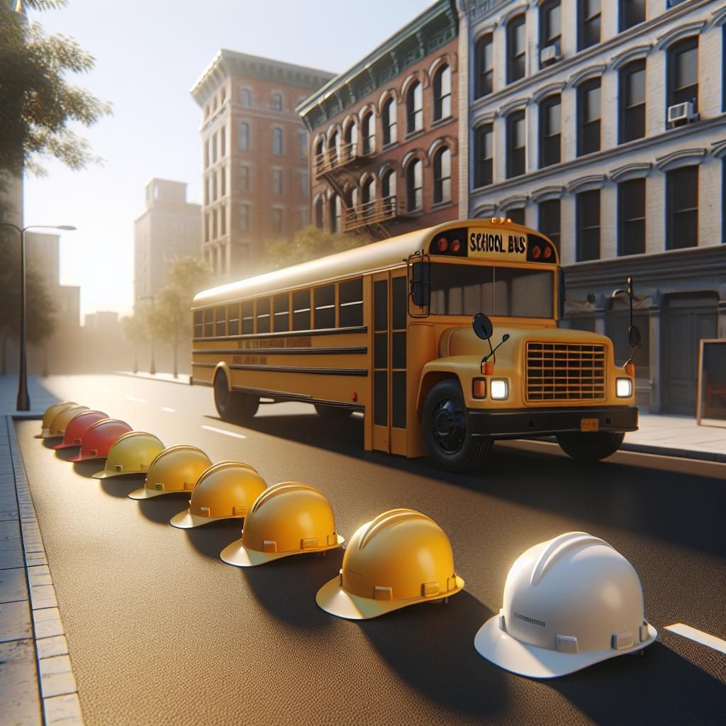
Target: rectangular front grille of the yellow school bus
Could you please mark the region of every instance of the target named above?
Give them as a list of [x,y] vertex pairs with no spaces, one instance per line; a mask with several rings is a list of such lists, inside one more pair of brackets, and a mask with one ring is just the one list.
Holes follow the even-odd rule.
[[605,346],[527,343],[528,401],[605,399]]

